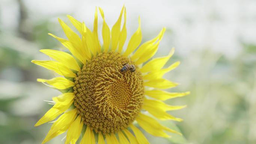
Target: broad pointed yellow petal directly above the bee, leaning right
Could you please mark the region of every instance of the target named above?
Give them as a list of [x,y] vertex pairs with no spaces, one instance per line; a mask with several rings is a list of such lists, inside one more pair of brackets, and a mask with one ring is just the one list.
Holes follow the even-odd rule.
[[140,45],[140,42],[142,39],[142,34],[141,34],[141,29],[140,29],[140,17],[139,17],[138,21],[139,21],[138,29],[132,35],[132,37],[128,43],[127,49],[124,53],[125,57],[127,57],[129,54],[131,54]]

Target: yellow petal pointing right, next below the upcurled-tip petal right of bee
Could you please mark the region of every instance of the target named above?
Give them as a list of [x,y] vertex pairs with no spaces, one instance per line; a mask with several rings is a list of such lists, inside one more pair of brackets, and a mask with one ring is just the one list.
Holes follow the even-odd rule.
[[168,68],[152,71],[152,72],[146,74],[145,76],[143,76],[143,79],[144,79],[144,80],[161,79],[162,76],[163,76],[165,73],[168,73],[169,71],[173,70],[173,69],[176,68],[179,64],[180,64],[180,62],[178,61],[178,62],[175,62],[174,64],[170,65]]

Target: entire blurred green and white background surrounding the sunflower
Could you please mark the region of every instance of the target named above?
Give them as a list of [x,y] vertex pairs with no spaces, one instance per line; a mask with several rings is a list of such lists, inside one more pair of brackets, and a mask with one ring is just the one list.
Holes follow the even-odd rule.
[[[64,49],[47,33],[65,37],[57,18],[72,15],[93,27],[95,6],[103,8],[112,27],[122,5],[127,7],[128,38],[141,17],[143,42],[167,27],[156,56],[172,47],[166,74],[179,82],[171,92],[191,91],[172,105],[183,122],[163,122],[183,136],[155,138],[152,144],[256,144],[256,1],[255,0],[0,0],[0,144],[40,144],[50,124],[34,124],[60,92],[36,82],[54,73],[32,64],[49,57],[39,49]],[[101,30],[102,19],[99,16]],[[100,33],[101,34],[101,33]],[[101,35],[100,35],[101,37]],[[127,45],[127,43],[126,43]],[[63,135],[48,144],[61,144]]]

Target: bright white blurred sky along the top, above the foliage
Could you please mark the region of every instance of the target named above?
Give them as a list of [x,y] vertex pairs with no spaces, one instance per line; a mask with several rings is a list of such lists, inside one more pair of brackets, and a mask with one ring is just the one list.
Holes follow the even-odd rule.
[[[1,27],[15,28],[16,1],[0,1]],[[165,34],[160,50],[168,52],[175,47],[184,56],[194,49],[209,48],[232,58],[242,49],[240,42],[256,44],[255,0],[24,0],[24,3],[33,21],[71,14],[90,28],[95,6],[103,8],[111,28],[125,4],[128,38],[137,29],[141,16],[144,37],[151,39],[162,27],[167,27],[171,32]],[[102,22],[100,15],[99,22]]]

